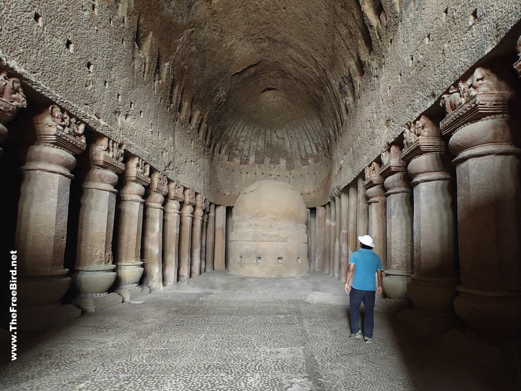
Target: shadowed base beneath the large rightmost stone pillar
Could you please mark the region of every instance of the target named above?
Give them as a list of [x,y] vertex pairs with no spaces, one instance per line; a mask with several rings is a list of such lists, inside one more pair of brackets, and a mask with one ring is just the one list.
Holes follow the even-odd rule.
[[[494,334],[494,330],[490,330]],[[456,329],[440,335],[440,340],[458,354],[482,361],[491,370],[518,371],[521,340],[483,336],[468,329]]]

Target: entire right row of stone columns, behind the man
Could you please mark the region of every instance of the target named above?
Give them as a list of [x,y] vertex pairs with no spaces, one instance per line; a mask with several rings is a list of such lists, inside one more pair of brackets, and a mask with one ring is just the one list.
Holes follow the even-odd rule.
[[[521,76],[521,60],[514,68]],[[400,318],[429,332],[452,330],[444,334],[451,343],[476,343],[475,335],[491,331],[518,337],[521,127],[514,74],[498,64],[477,67],[442,97],[441,123],[421,115],[405,127],[403,144],[385,146],[365,169],[365,180],[334,190],[316,208],[315,269],[342,278],[356,236],[368,233],[382,259],[384,293],[414,306]],[[461,324],[466,328],[453,330]]]

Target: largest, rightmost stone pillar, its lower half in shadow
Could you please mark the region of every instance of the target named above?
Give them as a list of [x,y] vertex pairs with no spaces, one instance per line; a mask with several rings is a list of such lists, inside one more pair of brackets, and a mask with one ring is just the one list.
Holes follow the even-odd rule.
[[521,330],[521,127],[507,75],[477,68],[460,83],[469,87],[463,96],[444,99],[440,128],[456,166],[461,285],[454,310],[472,331],[514,338]]

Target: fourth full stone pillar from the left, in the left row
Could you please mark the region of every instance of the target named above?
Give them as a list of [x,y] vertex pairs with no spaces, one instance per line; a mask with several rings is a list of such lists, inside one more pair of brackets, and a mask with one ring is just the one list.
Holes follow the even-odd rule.
[[163,289],[163,202],[168,194],[166,175],[154,170],[145,201],[143,233],[143,285],[150,291]]

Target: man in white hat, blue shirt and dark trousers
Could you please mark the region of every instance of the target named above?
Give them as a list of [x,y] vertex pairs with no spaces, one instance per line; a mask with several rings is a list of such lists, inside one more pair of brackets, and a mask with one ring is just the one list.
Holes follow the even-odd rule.
[[[358,236],[360,247],[355,251],[349,261],[348,272],[345,275],[345,293],[349,293],[351,310],[351,331],[349,339],[365,339],[367,344],[373,339],[375,328],[375,291],[378,295],[382,293],[382,262],[380,257],[374,253],[375,243],[369,235]],[[355,271],[355,278],[351,289],[349,281]],[[375,282],[375,273],[378,273],[378,286]],[[360,315],[358,309],[364,303],[365,320],[364,333],[360,329]]]

